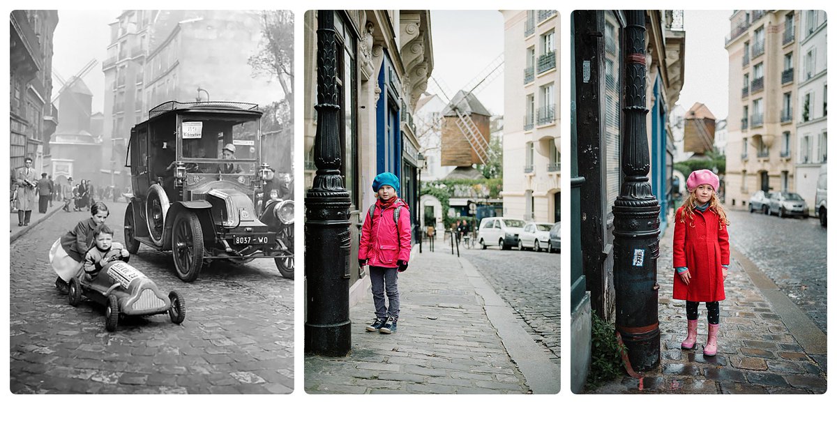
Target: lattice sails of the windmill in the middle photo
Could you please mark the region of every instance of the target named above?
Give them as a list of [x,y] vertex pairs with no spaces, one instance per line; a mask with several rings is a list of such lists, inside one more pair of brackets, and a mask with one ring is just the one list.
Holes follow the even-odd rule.
[[[433,90],[435,90],[431,93],[438,94],[444,98],[449,109],[454,111],[456,114],[456,126],[482,164],[490,162],[494,155],[490,152],[488,141],[485,140],[485,136],[479,130],[474,120],[471,119],[470,110],[465,105],[469,97],[474,97],[476,93],[485,89],[486,86],[503,73],[504,60],[504,54],[502,53],[493,59],[474,79],[471,79],[468,84],[465,84],[465,87],[460,90],[460,92],[464,93],[462,95],[459,93],[457,95],[450,95],[449,88],[444,84],[442,79],[437,79],[434,76],[430,78],[433,80]],[[439,116],[437,119],[441,120],[443,117]],[[439,128],[438,121],[423,122],[423,124],[419,125],[424,130],[419,130],[420,134],[430,129]]]

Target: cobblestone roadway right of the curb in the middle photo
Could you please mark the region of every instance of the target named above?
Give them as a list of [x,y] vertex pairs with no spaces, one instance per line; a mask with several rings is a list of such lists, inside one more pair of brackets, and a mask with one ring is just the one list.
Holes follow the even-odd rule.
[[561,361],[561,254],[490,247],[465,248],[467,258],[494,287],[529,333]]

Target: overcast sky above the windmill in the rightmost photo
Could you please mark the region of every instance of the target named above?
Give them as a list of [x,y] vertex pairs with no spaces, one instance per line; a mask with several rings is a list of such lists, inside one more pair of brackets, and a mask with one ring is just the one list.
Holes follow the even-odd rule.
[[717,120],[729,108],[729,54],[724,39],[730,33],[730,11],[686,11],[686,74],[677,105],[689,110],[701,102]]

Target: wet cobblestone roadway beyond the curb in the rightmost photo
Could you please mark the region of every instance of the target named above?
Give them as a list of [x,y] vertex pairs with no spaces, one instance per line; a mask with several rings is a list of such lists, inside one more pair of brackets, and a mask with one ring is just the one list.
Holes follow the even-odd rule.
[[815,217],[730,212],[730,242],[827,332],[827,230]]

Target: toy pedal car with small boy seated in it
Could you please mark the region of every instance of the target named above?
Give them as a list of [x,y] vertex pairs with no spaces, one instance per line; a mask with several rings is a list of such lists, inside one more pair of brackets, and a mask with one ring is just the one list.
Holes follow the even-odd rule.
[[163,294],[151,279],[123,261],[105,264],[92,281],[84,273],[69,280],[69,304],[82,299],[105,305],[105,329],[116,330],[120,315],[157,315],[168,312],[172,322],[186,319],[186,306],[175,291]]

